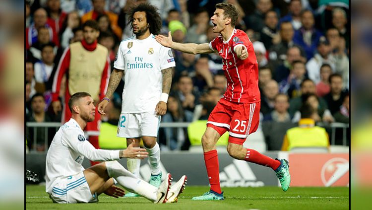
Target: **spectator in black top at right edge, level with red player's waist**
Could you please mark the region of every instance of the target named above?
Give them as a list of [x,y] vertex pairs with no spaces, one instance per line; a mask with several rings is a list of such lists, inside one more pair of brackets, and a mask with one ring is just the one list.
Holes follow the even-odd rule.
[[324,96],[331,114],[335,114],[340,110],[345,96],[348,94],[347,90],[343,90],[342,76],[339,73],[332,73],[329,76],[329,85],[331,91]]

